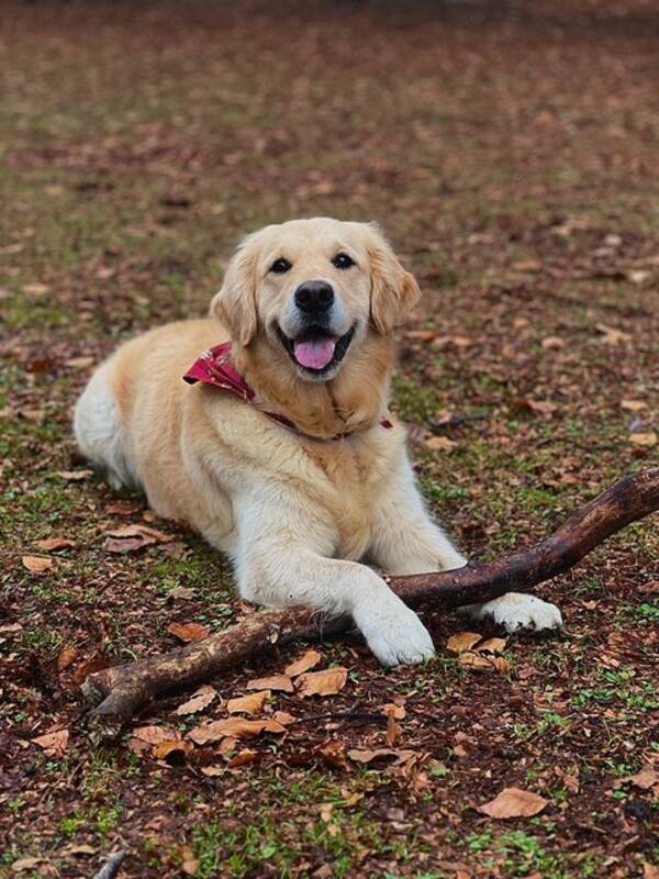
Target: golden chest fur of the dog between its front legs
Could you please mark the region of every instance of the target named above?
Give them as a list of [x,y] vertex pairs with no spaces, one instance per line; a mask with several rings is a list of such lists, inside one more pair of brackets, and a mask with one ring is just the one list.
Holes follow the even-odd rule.
[[339,558],[361,558],[371,543],[378,500],[393,467],[388,452],[350,441],[306,449],[328,483],[323,500],[338,534]]

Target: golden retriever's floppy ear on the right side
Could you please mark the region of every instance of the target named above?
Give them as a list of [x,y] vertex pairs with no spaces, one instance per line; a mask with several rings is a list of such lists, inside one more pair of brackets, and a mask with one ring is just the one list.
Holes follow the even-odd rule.
[[386,335],[407,316],[421,290],[414,276],[401,266],[378,225],[369,223],[369,229],[371,318],[376,330]]

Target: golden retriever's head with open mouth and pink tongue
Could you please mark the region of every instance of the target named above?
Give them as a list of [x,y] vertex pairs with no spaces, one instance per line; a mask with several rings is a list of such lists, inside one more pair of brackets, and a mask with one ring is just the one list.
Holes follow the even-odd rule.
[[211,315],[239,345],[261,336],[299,376],[326,381],[369,335],[389,335],[418,294],[377,225],[292,220],[243,241]]

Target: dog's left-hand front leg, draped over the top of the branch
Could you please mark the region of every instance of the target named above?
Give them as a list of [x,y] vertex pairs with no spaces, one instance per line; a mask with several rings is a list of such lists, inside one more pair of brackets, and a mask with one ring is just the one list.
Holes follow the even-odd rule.
[[[331,616],[349,614],[386,666],[434,656],[433,641],[414,611],[366,565],[331,558],[336,534],[322,510],[287,504],[268,489],[234,499],[234,552],[241,594],[273,607],[306,604]],[[275,501],[275,502],[269,502]]]

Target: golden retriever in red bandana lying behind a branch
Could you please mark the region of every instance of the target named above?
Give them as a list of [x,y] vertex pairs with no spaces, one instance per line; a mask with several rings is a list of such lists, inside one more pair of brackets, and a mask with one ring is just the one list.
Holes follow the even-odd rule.
[[[152,330],[99,367],[76,405],[79,448],[228,554],[243,598],[349,614],[383,665],[426,660],[431,635],[377,572],[466,564],[388,411],[394,326],[418,297],[375,224],[266,226],[238,246],[208,319]],[[517,593],[471,612],[510,631],[562,622]]]

